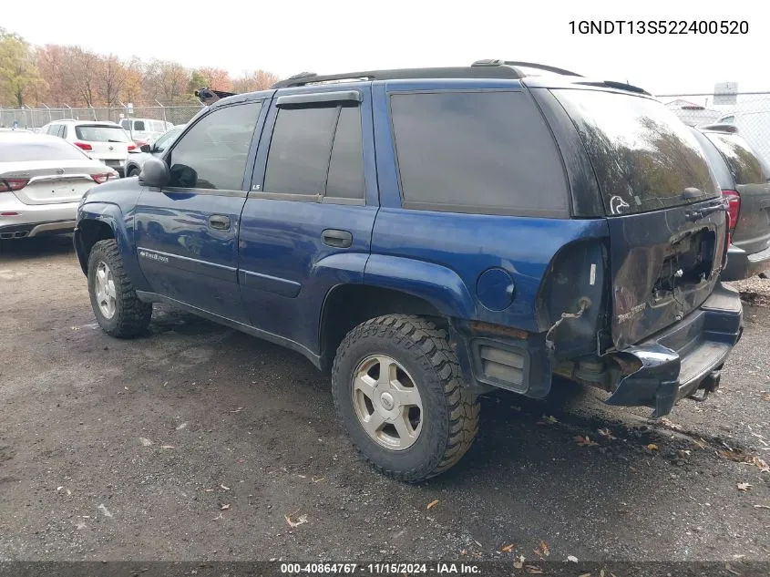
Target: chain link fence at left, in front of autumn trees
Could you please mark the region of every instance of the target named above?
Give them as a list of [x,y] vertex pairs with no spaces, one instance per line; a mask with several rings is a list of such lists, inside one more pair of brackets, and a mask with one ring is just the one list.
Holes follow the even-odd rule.
[[110,120],[122,118],[152,118],[171,124],[186,124],[202,105],[148,106],[115,108],[0,108],[0,128],[39,129],[54,120]]

